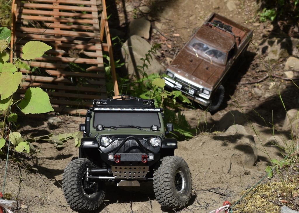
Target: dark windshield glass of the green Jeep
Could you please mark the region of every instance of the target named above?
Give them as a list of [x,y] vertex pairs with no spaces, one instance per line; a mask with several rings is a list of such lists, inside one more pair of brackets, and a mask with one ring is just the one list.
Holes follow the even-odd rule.
[[149,128],[152,125],[161,127],[156,112],[96,112],[94,113],[93,126],[96,127],[99,124],[120,128],[134,128],[122,125],[141,126],[142,128]]

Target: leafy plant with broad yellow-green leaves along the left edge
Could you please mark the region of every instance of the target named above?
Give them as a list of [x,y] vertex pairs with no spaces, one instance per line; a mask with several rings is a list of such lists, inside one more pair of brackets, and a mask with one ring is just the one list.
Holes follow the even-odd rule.
[[[0,111],[2,117],[0,120],[1,148],[6,141],[10,141],[18,152],[30,151],[30,142],[23,140],[19,132],[13,132],[13,125],[16,125],[18,115],[12,109],[18,108],[24,114],[38,114],[53,111],[49,96],[41,88],[30,87],[26,90],[25,96],[14,100],[16,91],[22,87],[24,82],[23,74],[19,70],[27,70],[28,75],[30,63],[35,58],[41,57],[45,51],[52,47],[41,41],[29,41],[22,48],[22,57],[18,58],[14,54],[13,63],[7,62],[10,59],[6,49],[13,51],[9,44],[11,40],[11,31],[6,27],[0,27]],[[28,63],[22,60],[27,60]],[[32,147],[32,146],[31,146]]]

